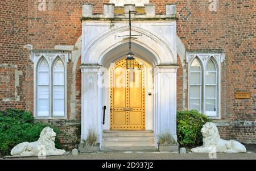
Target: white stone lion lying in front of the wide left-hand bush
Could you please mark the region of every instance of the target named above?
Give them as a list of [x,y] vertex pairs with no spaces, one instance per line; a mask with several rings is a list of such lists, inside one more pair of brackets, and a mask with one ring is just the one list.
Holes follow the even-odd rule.
[[34,155],[64,155],[63,149],[55,148],[56,132],[52,128],[46,127],[40,134],[38,141],[28,143],[23,142],[16,145],[11,150],[12,156],[34,156]]

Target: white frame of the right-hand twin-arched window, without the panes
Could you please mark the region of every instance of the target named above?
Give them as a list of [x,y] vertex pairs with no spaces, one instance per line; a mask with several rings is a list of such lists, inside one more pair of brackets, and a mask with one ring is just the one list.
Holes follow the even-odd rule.
[[[190,109],[190,76],[191,64],[197,58],[201,64],[201,113],[208,115],[210,118],[221,119],[221,63],[225,60],[225,54],[221,51],[189,51],[186,53],[186,60],[188,62],[188,109]],[[206,73],[207,64],[210,60],[216,67],[216,112],[206,112]],[[202,94],[203,93],[203,94]],[[203,102],[202,102],[203,101]]]

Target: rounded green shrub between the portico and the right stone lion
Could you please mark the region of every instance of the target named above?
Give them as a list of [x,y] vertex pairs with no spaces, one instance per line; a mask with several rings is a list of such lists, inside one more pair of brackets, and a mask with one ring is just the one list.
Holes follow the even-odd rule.
[[177,141],[181,147],[194,147],[203,143],[201,128],[210,119],[196,110],[177,111]]

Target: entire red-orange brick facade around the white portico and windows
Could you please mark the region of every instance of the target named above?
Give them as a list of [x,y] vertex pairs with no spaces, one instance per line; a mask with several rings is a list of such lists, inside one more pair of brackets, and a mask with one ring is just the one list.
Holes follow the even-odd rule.
[[[85,2],[94,3],[94,12],[101,13],[103,3],[109,1],[46,0],[45,11],[39,8],[40,1],[0,2],[0,110],[16,108],[33,112],[34,64],[29,61],[29,51],[24,45],[31,44],[33,49],[46,50],[54,49],[55,45],[75,45],[81,36],[80,19],[82,3]],[[158,14],[165,11],[167,3],[174,2],[178,18],[177,36],[185,45],[186,51],[214,50],[225,53],[225,61],[221,64],[221,121],[255,122],[255,1],[217,0],[215,11],[209,10],[208,0],[150,1],[156,4]],[[80,122],[81,119],[81,57],[78,58],[77,64],[73,61],[67,64],[67,122],[73,119]],[[181,62],[183,61],[178,59],[177,109],[187,109],[188,92],[183,92]],[[72,101],[71,81],[74,76],[75,103]],[[236,91],[250,91],[250,99],[235,99]],[[71,111],[74,104],[75,116]],[[64,126],[61,128],[65,130]],[[255,125],[230,124],[219,126],[219,130],[224,138],[256,143]]]

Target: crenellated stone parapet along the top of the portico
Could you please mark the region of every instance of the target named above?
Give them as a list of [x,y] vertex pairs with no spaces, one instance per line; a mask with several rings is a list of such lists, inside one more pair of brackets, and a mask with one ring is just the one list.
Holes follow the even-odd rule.
[[115,6],[114,3],[104,3],[103,14],[93,14],[93,4],[84,3],[82,5],[83,19],[127,19],[127,13],[138,11],[132,14],[132,19],[176,19],[176,5],[167,4],[165,14],[155,13],[155,4],[145,4],[144,6],[135,6],[135,4],[125,4],[123,6]]

